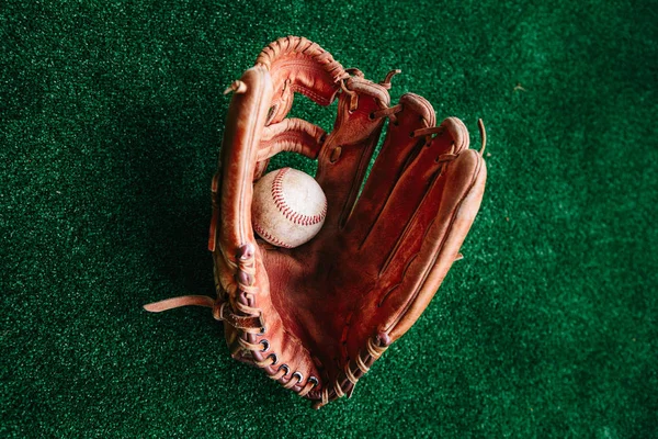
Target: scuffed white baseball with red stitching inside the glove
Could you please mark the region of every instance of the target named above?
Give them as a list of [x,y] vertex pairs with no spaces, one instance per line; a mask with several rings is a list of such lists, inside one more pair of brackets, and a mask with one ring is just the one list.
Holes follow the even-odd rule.
[[292,168],[266,173],[253,187],[251,221],[270,244],[294,248],[320,232],[327,196],[315,179]]

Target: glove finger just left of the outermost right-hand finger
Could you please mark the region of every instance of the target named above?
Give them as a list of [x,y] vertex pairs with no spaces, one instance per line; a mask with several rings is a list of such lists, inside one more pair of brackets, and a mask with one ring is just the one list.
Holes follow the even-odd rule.
[[[438,200],[432,199],[430,193],[434,187],[441,185],[445,181],[445,178],[442,178],[442,171],[451,164],[446,164],[444,160],[456,157],[460,150],[463,150],[464,146],[468,144],[462,137],[463,131],[465,131],[464,124],[457,119],[447,119],[440,127],[432,130],[441,131],[441,133],[427,142],[423,142],[423,136],[420,137],[421,147],[418,154],[411,156],[405,164],[404,170],[388,193],[375,222],[360,244],[360,249],[368,254],[368,260],[381,271],[386,270],[396,248],[412,232],[410,227],[413,217],[421,210],[430,209],[433,203],[436,203]],[[411,133],[407,135],[411,135]],[[436,212],[438,205],[433,209]],[[373,248],[390,250],[373,251],[376,256],[371,257],[370,252]]]

